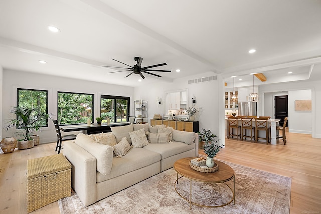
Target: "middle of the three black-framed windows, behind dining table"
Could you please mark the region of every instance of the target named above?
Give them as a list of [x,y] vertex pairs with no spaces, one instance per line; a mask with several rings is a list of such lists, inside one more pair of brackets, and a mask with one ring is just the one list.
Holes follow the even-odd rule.
[[93,121],[94,95],[58,91],[58,123],[79,124]]

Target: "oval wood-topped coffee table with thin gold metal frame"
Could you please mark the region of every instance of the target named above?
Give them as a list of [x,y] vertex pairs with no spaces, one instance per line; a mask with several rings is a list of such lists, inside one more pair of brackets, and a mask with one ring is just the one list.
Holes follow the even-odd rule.
[[[230,204],[232,201],[234,201],[235,204],[235,174],[234,170],[228,166],[227,164],[215,160],[215,162],[219,165],[219,170],[216,172],[212,173],[205,173],[205,172],[199,172],[194,169],[192,169],[189,165],[189,162],[191,159],[194,159],[195,157],[187,157],[180,159],[174,163],[174,169],[177,172],[177,179],[174,183],[174,188],[176,193],[182,197],[184,200],[190,202],[190,209],[192,209],[192,204],[197,205],[197,206],[202,206],[202,207],[208,207],[208,208],[218,208],[222,206],[226,206]],[[182,175],[181,177],[178,177],[178,174]],[[178,183],[178,180],[182,177],[185,177],[190,180],[190,200],[184,198],[176,189],[176,184]],[[230,181],[233,179],[233,190],[232,188],[227,185],[225,182]],[[229,189],[232,191],[232,199],[222,205],[219,206],[206,206],[202,204],[198,204],[195,202],[192,202],[192,180],[194,181],[199,181],[199,182],[204,182],[204,183],[224,183]]]

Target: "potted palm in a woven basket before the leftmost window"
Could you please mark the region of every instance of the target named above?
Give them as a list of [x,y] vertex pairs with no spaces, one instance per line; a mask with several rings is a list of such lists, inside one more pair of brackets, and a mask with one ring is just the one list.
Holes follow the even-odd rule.
[[9,119],[10,125],[6,126],[8,131],[11,127],[16,127],[16,134],[23,139],[18,140],[18,149],[34,147],[32,134],[34,131],[41,131],[43,119],[48,118],[48,114],[40,111],[38,107],[28,107],[25,105],[13,107],[10,113],[16,115],[14,119]]

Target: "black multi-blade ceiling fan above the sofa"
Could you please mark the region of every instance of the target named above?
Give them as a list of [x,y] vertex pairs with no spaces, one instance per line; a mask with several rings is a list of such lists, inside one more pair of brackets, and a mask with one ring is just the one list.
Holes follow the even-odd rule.
[[[126,66],[129,66],[129,68],[124,68],[124,67],[115,67],[115,66],[106,66],[106,65],[102,65],[103,67],[109,67],[109,68],[123,68],[123,69],[126,69],[126,70],[123,70],[123,71],[132,71],[130,74],[128,74],[126,77],[130,76],[131,74],[139,74],[143,79],[145,79],[144,75],[142,73],[146,73],[146,74],[150,74],[150,75],[153,75],[153,76],[156,76],[156,77],[162,77],[161,75],[158,75],[158,74],[153,74],[153,73],[150,73],[149,71],[157,71],[157,72],[171,72],[169,70],[155,70],[155,69],[149,69],[149,68],[154,68],[154,67],[158,67],[158,66],[163,66],[163,65],[166,65],[166,63],[161,63],[161,64],[157,64],[157,65],[151,65],[151,66],[146,66],[146,67],[141,67],[141,63],[142,63],[142,60],[143,58],[141,57],[135,57],[134,58],[135,61],[137,62],[136,65],[134,66],[130,66],[130,65],[127,65],[123,62],[120,62],[118,60],[115,60],[115,59],[112,59],[112,60],[115,60],[119,63],[122,63]],[[117,73],[117,72],[123,72],[123,71],[114,71],[114,72],[108,72],[108,73]]]

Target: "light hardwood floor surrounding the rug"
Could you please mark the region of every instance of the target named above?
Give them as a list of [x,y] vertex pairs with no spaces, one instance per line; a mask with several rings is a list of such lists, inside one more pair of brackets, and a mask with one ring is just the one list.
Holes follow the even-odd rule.
[[[27,213],[27,160],[55,154],[55,143],[0,153],[0,213]],[[63,150],[62,150],[63,151]],[[202,150],[199,150],[202,153]],[[204,153],[203,153],[204,154]],[[276,146],[227,140],[216,158],[292,178],[290,213],[321,213],[321,139],[287,133]],[[237,194],[237,192],[236,192]],[[33,213],[60,213],[54,202]]]

